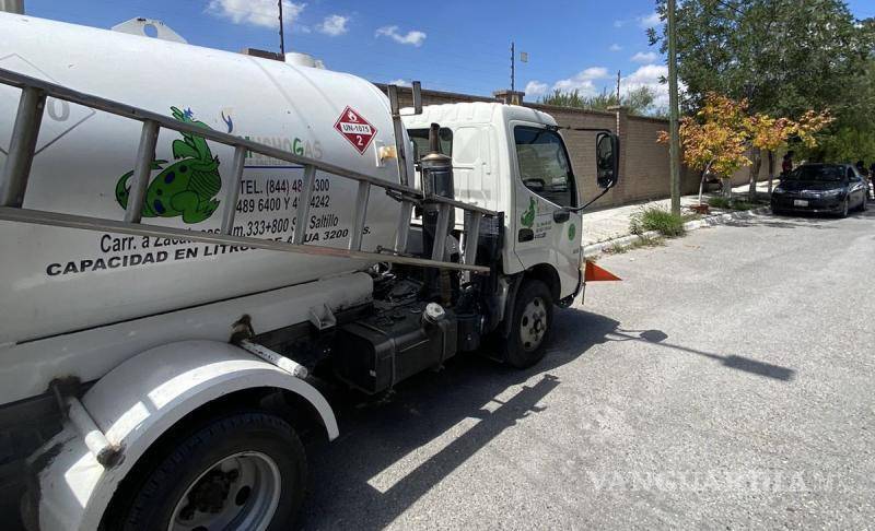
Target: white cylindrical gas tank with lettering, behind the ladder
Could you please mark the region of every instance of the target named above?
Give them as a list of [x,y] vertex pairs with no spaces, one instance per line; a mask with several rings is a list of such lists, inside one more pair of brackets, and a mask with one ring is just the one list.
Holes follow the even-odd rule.
[[[0,68],[398,182],[387,98],[360,78],[178,43],[0,13]],[[0,165],[20,91],[0,85]],[[340,118],[373,138],[348,138]],[[121,220],[140,123],[49,98],[24,206]],[[252,153],[224,204],[233,149],[162,130],[144,223],[289,239],[303,169]],[[308,241],[346,247],[357,184],[317,174]],[[371,193],[363,250],[392,246],[399,205]],[[2,344],[360,270],[366,263],[0,222]]]

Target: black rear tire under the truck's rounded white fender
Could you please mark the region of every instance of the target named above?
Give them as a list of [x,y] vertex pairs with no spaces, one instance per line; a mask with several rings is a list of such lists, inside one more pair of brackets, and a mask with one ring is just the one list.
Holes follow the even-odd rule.
[[104,529],[285,530],[304,499],[304,447],[270,413],[208,418],[147,464],[113,502]]

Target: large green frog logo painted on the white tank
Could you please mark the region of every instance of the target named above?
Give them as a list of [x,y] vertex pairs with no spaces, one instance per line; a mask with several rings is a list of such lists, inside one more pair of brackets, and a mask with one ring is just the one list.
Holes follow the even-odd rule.
[[[191,109],[179,110],[171,107],[173,117],[185,123],[210,129],[202,121],[195,120]],[[175,163],[167,167],[167,161],[154,161],[152,170],[161,170],[152,179],[143,201],[143,217],[176,217],[183,222],[200,223],[209,219],[219,208],[215,194],[222,189],[222,177],[219,175],[219,157],[213,156],[207,141],[191,133],[180,133],[182,140],[174,140],[173,158]],[[128,179],[133,170],[118,179],[116,201],[122,209],[128,206],[130,185]]]

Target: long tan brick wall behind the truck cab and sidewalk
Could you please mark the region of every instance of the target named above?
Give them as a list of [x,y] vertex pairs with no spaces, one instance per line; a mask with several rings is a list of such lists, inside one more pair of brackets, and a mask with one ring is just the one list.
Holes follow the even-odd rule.
[[[378,84],[377,86],[383,91],[386,88],[385,85]],[[423,105],[494,101],[495,98],[492,97],[422,91]],[[413,105],[410,88],[400,87],[399,103],[402,107]],[[628,116],[623,109],[597,111],[532,103],[523,103],[523,105],[551,115],[560,126],[606,128],[617,132],[619,125],[620,180],[611,191],[598,200],[598,206],[614,206],[648,199],[662,199],[669,196],[668,145],[656,143],[658,132],[668,129],[666,120]],[[578,189],[581,190],[581,198],[588,200],[599,192],[595,185],[595,133],[562,131],[562,137],[568,145],[571,164],[578,178]],[[780,160],[778,164],[780,164]],[[748,178],[749,169],[743,168],[733,176],[733,184],[745,184]],[[766,178],[768,178],[768,167],[763,157],[760,179]],[[696,193],[699,190],[698,173],[681,167],[680,190],[685,194]]]

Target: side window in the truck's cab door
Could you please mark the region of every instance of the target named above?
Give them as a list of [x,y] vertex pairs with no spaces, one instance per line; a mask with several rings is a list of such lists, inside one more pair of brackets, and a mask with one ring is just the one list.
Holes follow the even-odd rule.
[[576,206],[574,174],[562,138],[549,129],[513,130],[520,176],[526,188],[560,206]]

